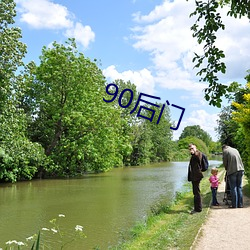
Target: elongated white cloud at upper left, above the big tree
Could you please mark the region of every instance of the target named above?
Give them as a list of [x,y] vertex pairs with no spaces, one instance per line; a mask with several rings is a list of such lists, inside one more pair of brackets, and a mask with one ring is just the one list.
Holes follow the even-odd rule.
[[64,30],[63,35],[75,38],[84,48],[95,39],[89,25],[75,22],[74,15],[63,5],[49,0],[17,0],[20,20],[34,29]]

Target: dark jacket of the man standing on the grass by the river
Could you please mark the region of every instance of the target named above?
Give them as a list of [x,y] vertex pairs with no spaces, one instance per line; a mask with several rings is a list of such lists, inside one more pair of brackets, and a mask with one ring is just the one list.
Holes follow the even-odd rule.
[[199,150],[191,155],[188,166],[188,181],[200,181],[203,178],[201,172],[201,158],[202,153]]

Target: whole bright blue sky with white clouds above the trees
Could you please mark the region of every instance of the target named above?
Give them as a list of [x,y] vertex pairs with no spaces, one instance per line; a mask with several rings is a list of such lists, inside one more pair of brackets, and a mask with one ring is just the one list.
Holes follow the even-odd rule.
[[[15,20],[27,44],[25,62],[39,64],[43,46],[74,37],[78,50],[97,60],[108,83],[131,81],[139,92],[168,101],[175,124],[181,115],[175,106],[185,108],[178,130],[173,130],[174,139],[186,126],[200,125],[217,141],[214,128],[221,109],[204,100],[207,84],[199,82],[192,63],[194,52],[202,51],[190,30],[194,2],[16,0]],[[250,69],[250,21],[228,17],[227,10],[221,10],[226,29],[218,33],[216,42],[225,52],[227,72],[219,77],[224,84],[237,81],[244,86]]]

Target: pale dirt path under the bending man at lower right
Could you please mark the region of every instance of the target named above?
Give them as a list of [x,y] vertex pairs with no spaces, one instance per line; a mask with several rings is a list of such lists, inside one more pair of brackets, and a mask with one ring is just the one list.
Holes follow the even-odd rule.
[[218,188],[219,207],[211,207],[191,249],[250,249],[250,199],[244,196],[244,207],[230,209],[223,202],[225,182]]

